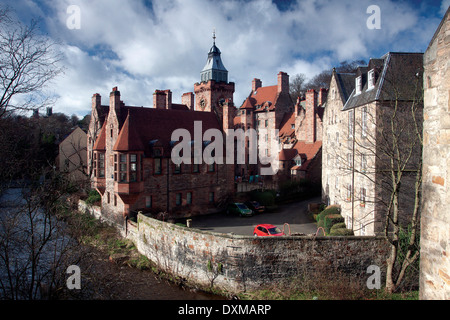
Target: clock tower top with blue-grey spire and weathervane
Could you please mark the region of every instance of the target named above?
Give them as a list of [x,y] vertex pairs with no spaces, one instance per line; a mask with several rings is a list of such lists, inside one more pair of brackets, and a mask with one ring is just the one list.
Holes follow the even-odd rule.
[[215,112],[222,121],[224,102],[233,102],[234,82],[228,82],[228,71],[220,54],[214,31],[213,46],[209,50],[206,65],[200,72],[200,83],[194,84],[194,93],[195,110]]

